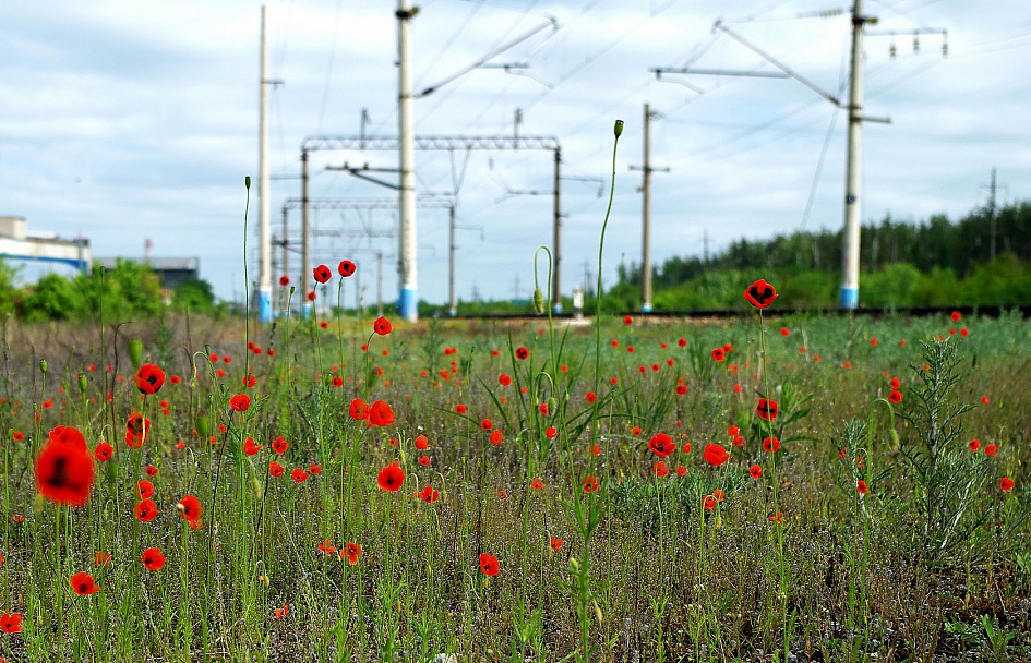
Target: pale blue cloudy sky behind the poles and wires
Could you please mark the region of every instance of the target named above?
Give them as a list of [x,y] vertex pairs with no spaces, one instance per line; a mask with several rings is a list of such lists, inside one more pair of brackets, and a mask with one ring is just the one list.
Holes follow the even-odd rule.
[[[699,255],[706,237],[718,251],[741,237],[837,229],[843,111],[795,80],[657,80],[650,70],[777,71],[714,31],[721,19],[815,86],[847,98],[847,2],[428,0],[412,21],[415,88],[446,83],[415,101],[416,134],[518,132],[559,141],[566,293],[597,268],[615,119],[626,129],[604,281],[615,279],[620,263],[640,261],[640,172],[632,167],[642,164],[646,103],[657,113],[652,167],[669,168],[652,176],[657,263]],[[281,81],[269,119],[277,234],[285,201],[300,195],[305,137],[396,137],[394,9],[387,0],[268,4],[269,75]],[[993,167],[1000,203],[1031,197],[1031,76],[1021,64],[1031,55],[1031,5],[867,0],[866,13],[878,23],[865,44],[865,111],[891,123],[864,126],[864,220],[957,219],[985,204]],[[934,32],[940,29],[947,39]],[[3,2],[0,215],[26,217],[32,231],[88,238],[97,256],[139,258],[149,240],[153,256],[196,256],[220,298],[242,299],[257,279],[253,195],[244,272],[243,180],[257,177],[259,43],[259,2]],[[534,251],[551,244],[552,155],[420,150],[416,159],[420,193],[458,194],[459,298],[527,297]],[[316,153],[311,196],[386,198],[385,208],[313,213],[313,261],[355,260],[370,300],[382,256],[384,299],[392,301],[396,193],[325,169],[345,161],[397,167],[389,152]],[[300,215],[289,222],[297,239]],[[447,225],[444,209],[418,212],[418,294],[431,302],[447,300]],[[299,265],[291,256],[295,281]],[[23,279],[37,272],[25,267]],[[275,276],[281,272],[277,264]]]

